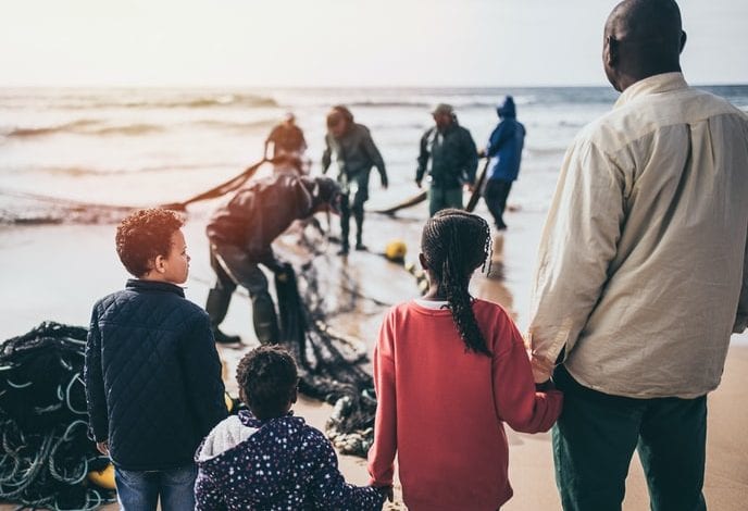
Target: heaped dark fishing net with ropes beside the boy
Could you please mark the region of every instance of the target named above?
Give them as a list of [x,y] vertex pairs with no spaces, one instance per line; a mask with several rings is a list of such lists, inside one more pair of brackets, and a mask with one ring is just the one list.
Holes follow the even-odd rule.
[[90,510],[113,491],[87,481],[109,459],[88,438],[86,329],[47,322],[0,347],[0,500]]

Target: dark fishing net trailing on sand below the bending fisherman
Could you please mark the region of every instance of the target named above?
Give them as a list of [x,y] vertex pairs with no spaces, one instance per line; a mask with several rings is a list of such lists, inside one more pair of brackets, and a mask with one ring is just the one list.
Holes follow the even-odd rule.
[[317,282],[311,263],[302,266],[299,282],[290,265],[276,274],[282,344],[297,360],[301,392],[334,406],[325,425],[333,445],[345,454],[365,458],[376,413],[374,382],[361,366],[366,349],[327,326]]

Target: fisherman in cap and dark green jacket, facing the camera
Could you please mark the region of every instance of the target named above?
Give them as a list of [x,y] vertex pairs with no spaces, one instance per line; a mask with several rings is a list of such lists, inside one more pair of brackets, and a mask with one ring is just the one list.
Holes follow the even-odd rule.
[[436,125],[421,137],[415,184],[421,188],[431,161],[428,213],[434,216],[446,208],[462,209],[462,186],[472,189],[475,184],[478,157],[473,137],[460,126],[451,105],[438,104],[432,115]]

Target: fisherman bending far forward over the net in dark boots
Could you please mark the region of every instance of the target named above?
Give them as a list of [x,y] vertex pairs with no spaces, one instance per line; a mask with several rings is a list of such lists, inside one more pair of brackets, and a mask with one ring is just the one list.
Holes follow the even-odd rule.
[[275,274],[287,266],[275,258],[273,240],[295,220],[317,211],[337,212],[340,189],[327,177],[299,176],[291,170],[252,182],[240,188],[208,223],[210,261],[216,283],[208,294],[205,310],[217,342],[239,342],[219,329],[237,285],[249,291],[252,300],[254,333],[262,344],[278,342],[275,304],[267,292],[267,278],[260,264]]

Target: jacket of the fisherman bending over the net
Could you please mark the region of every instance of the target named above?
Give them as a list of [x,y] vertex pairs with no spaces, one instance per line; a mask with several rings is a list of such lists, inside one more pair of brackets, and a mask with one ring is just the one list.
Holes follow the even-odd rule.
[[321,199],[312,196],[313,188],[313,179],[291,172],[254,180],[213,213],[208,238],[214,245],[239,247],[259,262],[295,220],[314,213]]

